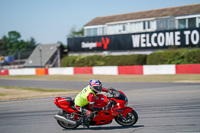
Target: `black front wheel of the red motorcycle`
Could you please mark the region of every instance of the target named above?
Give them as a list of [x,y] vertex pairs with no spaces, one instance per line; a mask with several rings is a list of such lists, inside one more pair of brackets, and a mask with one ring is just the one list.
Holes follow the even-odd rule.
[[126,118],[119,115],[115,117],[115,121],[122,126],[132,126],[138,121],[138,114],[135,110],[132,110],[126,115]]

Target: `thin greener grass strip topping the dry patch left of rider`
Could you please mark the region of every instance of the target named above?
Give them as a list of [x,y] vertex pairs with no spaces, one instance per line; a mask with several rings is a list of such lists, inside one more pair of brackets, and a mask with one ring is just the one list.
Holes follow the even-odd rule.
[[31,91],[39,91],[39,92],[70,92],[73,90],[66,89],[44,89],[44,88],[31,88],[31,87],[16,87],[16,86],[0,86],[5,89],[19,89],[19,90],[31,90]]

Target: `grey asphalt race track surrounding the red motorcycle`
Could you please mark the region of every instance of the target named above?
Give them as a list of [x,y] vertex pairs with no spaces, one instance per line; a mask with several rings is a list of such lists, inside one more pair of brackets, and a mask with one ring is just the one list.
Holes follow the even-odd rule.
[[[81,89],[86,82],[0,80],[1,86]],[[62,129],[53,118],[59,109],[54,97],[0,102],[0,133],[200,133],[200,84],[188,83],[114,83],[122,90],[129,106],[138,115],[138,122],[122,127],[115,121],[109,125],[79,126]],[[74,97],[74,95],[72,95]]]

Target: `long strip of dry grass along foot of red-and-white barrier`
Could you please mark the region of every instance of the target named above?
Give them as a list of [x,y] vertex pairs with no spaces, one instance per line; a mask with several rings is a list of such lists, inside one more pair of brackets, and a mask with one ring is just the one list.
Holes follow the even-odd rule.
[[17,80],[48,80],[48,81],[87,81],[99,79],[102,82],[180,82],[183,80],[200,82],[200,74],[175,75],[29,75],[29,76],[0,76],[0,79]]

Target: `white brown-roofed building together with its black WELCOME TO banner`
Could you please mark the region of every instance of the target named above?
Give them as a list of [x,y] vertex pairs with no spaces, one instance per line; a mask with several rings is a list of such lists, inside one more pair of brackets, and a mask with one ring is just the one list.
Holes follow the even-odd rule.
[[96,17],[84,36],[68,38],[70,55],[150,54],[200,47],[200,4]]

